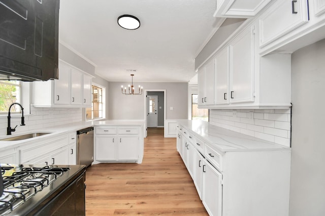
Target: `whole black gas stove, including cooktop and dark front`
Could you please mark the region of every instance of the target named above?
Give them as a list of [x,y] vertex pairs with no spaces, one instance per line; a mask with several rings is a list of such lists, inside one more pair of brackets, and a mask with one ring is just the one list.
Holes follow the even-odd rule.
[[1,164],[1,174],[0,215],[85,215],[83,165]]

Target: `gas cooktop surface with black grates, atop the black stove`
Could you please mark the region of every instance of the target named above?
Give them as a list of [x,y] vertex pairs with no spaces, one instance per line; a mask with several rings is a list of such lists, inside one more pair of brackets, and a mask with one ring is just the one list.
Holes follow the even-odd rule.
[[1,164],[3,184],[0,186],[3,193],[0,197],[0,215],[36,212],[84,171],[85,167],[79,165]]

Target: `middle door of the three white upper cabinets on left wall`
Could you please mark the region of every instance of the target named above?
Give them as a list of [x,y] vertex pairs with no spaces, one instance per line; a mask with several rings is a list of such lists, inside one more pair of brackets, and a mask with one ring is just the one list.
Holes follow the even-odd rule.
[[74,68],[71,69],[71,104],[82,104],[82,73]]

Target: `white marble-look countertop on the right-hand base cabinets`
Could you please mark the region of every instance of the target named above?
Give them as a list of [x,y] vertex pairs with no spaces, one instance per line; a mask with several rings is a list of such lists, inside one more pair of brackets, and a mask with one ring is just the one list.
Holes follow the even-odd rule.
[[[200,136],[210,147],[221,151],[290,150],[289,147],[240,134],[202,120],[178,120],[194,136]],[[199,139],[200,139],[199,137]]]

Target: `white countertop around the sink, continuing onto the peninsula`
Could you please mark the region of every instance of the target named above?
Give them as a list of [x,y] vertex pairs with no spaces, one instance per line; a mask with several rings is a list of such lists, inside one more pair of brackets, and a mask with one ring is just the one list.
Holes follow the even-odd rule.
[[31,133],[50,133],[48,135],[43,135],[35,138],[30,138],[26,140],[18,140],[18,141],[0,141],[0,149],[6,150],[8,148],[13,148],[19,145],[24,145],[25,143],[31,143],[35,141],[41,141],[42,139],[49,138],[51,136],[60,135],[63,133],[72,133],[76,132],[80,129],[90,126],[123,126],[123,125],[135,125],[135,126],[144,126],[145,121],[141,120],[105,120],[105,121],[80,121],[70,124],[63,124],[51,127],[44,127],[42,129],[34,129],[30,131],[25,131],[21,133],[12,133],[12,135],[3,135],[0,136],[1,139],[6,139],[10,137],[16,137],[24,134],[31,134]]

